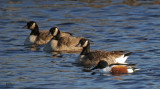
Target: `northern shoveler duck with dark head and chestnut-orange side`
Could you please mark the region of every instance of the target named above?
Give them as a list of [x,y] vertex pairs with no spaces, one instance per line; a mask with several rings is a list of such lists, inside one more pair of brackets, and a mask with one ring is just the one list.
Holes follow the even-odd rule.
[[116,74],[133,73],[137,70],[140,70],[140,69],[135,68],[134,66],[135,64],[111,64],[109,65],[106,61],[101,60],[99,61],[97,66],[95,66],[91,70],[102,69],[102,72],[104,73],[108,72],[113,75],[116,75]]

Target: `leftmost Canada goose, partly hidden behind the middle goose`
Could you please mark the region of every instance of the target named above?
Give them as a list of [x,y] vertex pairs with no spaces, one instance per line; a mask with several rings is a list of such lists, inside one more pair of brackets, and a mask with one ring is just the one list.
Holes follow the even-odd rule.
[[[24,45],[44,45],[48,43],[53,36],[47,36],[49,31],[48,30],[42,30],[39,31],[39,27],[35,21],[29,21],[27,22],[27,25],[23,28],[30,29],[31,33],[24,41]],[[70,36],[70,33],[63,33],[62,36]]]

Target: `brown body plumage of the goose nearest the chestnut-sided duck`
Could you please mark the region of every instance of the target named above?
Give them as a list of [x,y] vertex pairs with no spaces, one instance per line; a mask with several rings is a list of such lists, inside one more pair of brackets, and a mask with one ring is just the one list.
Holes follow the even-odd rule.
[[92,67],[97,65],[100,60],[105,60],[108,64],[113,64],[116,63],[115,59],[123,54],[123,51],[91,51],[85,55],[82,64],[86,67]]

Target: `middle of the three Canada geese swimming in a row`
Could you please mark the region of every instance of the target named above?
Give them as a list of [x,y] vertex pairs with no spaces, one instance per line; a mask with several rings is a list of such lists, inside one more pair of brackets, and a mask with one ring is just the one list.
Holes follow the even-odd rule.
[[60,37],[59,29],[55,27],[50,29],[50,35],[54,36],[53,39],[44,46],[44,51],[65,51],[65,52],[80,52],[82,47],[76,47],[83,37]]

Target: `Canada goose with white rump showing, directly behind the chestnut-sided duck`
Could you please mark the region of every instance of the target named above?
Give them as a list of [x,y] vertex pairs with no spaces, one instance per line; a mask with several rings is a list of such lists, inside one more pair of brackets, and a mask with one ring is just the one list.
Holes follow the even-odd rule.
[[124,51],[90,51],[90,42],[88,39],[81,39],[77,47],[83,47],[82,52],[76,59],[76,62],[85,67],[93,67],[98,64],[100,60],[105,60],[108,64],[125,63],[131,52]]

